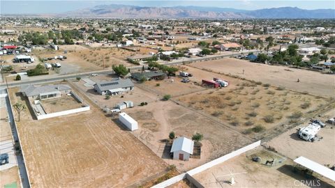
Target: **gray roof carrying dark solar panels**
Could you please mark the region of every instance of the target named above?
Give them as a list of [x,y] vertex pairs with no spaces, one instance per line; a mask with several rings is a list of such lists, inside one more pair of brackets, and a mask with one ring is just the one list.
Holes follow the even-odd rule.
[[113,79],[111,81],[101,81],[94,86],[98,86],[101,91],[107,91],[116,88],[126,88],[134,86],[133,81],[131,79]]

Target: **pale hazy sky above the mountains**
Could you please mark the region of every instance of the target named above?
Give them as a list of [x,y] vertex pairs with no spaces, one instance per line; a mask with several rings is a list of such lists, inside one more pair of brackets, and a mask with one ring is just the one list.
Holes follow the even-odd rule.
[[284,0],[284,1],[254,1],[254,0],[217,0],[217,1],[6,1],[0,0],[0,14],[19,13],[64,13],[70,10],[89,8],[103,4],[126,4],[134,6],[214,6],[222,8],[236,8],[244,10],[256,10],[260,8],[276,8],[292,6],[304,9],[335,8],[335,1],[311,1],[311,0]]

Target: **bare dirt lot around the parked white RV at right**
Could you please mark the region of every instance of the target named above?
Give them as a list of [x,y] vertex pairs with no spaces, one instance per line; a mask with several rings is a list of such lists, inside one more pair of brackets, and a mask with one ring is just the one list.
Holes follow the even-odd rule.
[[[322,118],[319,118],[323,122],[325,120],[335,117],[335,109],[329,111]],[[318,118],[318,117],[315,117]],[[297,157],[304,156],[322,165],[330,166],[335,165],[335,129],[334,125],[327,125],[318,132],[318,138],[314,142],[308,142],[300,139],[297,136],[297,128],[305,127],[308,124],[308,120],[299,125],[298,127],[285,132],[276,138],[269,141],[267,144],[276,149],[281,154],[296,159]]]

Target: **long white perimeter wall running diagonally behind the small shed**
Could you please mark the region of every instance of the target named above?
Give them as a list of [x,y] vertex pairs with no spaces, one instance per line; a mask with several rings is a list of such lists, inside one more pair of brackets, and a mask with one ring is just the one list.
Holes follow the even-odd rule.
[[214,159],[211,162],[207,162],[206,164],[202,164],[202,166],[198,166],[195,169],[192,169],[191,171],[187,171],[186,173],[182,173],[181,175],[174,176],[173,178],[170,178],[169,180],[166,180],[164,182],[161,182],[158,185],[154,185],[152,188],[161,188],[161,187],[168,187],[176,182],[179,182],[180,180],[183,180],[186,178],[186,175],[193,176],[197,173],[200,173],[202,171],[205,171],[213,166],[216,166],[218,164],[221,164],[222,162],[227,161],[228,159],[231,159],[232,157],[236,157],[237,155],[240,155],[244,152],[247,152],[248,150],[252,150],[253,148],[256,148],[260,146],[260,141],[256,141],[255,143],[251,143],[248,146],[245,146],[244,148],[240,148],[239,150],[233,151],[228,153],[227,155],[223,155],[222,157],[219,157],[218,159]]

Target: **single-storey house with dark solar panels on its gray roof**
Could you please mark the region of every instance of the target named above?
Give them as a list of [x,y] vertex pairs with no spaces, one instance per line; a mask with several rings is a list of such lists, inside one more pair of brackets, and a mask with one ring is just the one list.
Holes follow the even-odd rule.
[[133,89],[134,84],[131,79],[112,79],[94,84],[94,90],[100,95],[119,95]]

